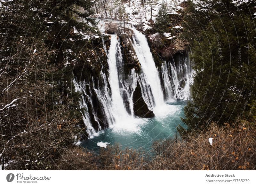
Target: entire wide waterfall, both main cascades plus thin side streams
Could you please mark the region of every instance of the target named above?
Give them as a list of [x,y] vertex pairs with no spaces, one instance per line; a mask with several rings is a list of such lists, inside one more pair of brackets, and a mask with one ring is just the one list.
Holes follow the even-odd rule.
[[99,135],[101,127],[117,132],[140,131],[140,126],[147,119],[134,115],[132,98],[137,83],[156,119],[163,119],[177,111],[174,105],[167,104],[170,100],[189,99],[193,70],[188,55],[181,54],[172,61],[163,61],[157,68],[146,36],[135,28],[131,29],[131,43],[141,66],[139,73],[134,68],[124,72],[122,46],[118,37],[111,35],[108,50],[102,37],[108,72],[106,67],[102,67],[99,77],[91,77],[90,82],[73,80],[76,91],[81,94],[80,108],[89,138]]

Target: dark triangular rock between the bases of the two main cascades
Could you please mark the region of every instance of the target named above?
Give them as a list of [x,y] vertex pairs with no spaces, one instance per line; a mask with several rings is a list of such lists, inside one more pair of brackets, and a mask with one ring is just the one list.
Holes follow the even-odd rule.
[[133,100],[133,111],[135,116],[139,116],[140,118],[154,117],[153,111],[148,109],[148,106],[141,95],[141,88],[140,88],[139,82],[137,82],[137,87],[133,92],[132,100]]

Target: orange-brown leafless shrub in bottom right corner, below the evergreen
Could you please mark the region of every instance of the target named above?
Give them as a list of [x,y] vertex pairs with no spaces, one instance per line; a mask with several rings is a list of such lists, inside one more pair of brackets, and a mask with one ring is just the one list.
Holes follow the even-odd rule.
[[[153,145],[155,156],[148,162],[150,170],[254,170],[255,127],[243,123],[231,128],[212,124],[198,136],[187,140],[169,139]],[[210,145],[208,138],[213,138]]]

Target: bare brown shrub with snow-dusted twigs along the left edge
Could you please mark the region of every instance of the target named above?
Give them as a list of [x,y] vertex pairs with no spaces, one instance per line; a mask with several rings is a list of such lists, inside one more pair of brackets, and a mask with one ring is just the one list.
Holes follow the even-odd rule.
[[53,169],[83,130],[72,98],[51,77],[58,68],[49,63],[54,51],[34,42],[33,48],[27,47],[33,43],[29,39],[18,43],[1,63],[0,159],[8,170]]

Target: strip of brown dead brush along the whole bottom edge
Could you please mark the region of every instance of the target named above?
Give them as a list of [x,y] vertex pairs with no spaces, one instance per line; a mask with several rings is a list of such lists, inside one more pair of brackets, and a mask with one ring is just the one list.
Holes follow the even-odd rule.
[[[79,146],[58,151],[49,169],[54,170],[255,170],[255,136],[252,123],[219,127],[216,124],[199,134],[156,141],[152,151],[121,150],[118,144],[95,154]],[[208,139],[212,137],[210,145]],[[24,147],[25,148],[25,147]],[[50,151],[50,149],[48,149]],[[54,152],[54,150],[53,150]],[[50,161],[50,157],[47,158]],[[45,161],[45,159],[41,159]],[[45,162],[44,162],[45,163]],[[44,164],[43,163],[43,164]],[[17,162],[13,164],[16,164]],[[7,169],[19,169],[8,166]],[[40,163],[39,163],[40,164]],[[26,166],[26,168],[28,168]],[[30,167],[35,169],[35,167]],[[45,169],[45,167],[40,167]]]

